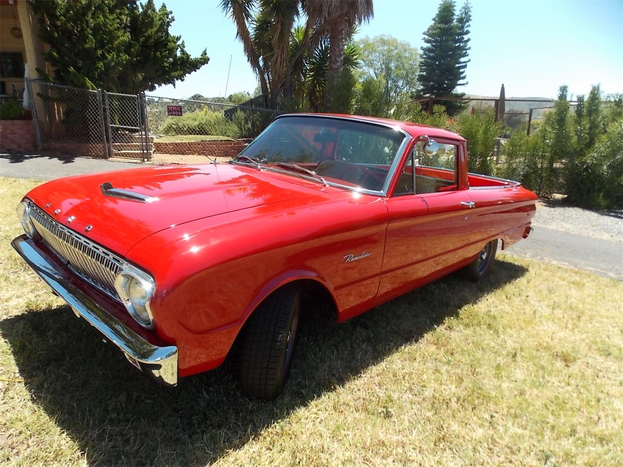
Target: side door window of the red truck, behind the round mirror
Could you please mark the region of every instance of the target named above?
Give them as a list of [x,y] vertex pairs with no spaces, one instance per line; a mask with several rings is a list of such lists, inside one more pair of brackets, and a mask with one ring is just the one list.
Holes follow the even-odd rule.
[[[418,143],[409,155],[398,177],[394,196],[428,194],[459,189],[457,174],[458,148],[454,144],[439,144],[439,151],[430,156]],[[416,171],[415,190],[413,171]]]

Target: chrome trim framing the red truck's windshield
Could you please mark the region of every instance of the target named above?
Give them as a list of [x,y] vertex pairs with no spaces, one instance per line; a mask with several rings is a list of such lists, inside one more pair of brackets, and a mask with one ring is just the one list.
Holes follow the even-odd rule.
[[[357,121],[359,123],[365,123],[366,125],[375,125],[375,126],[383,126],[385,128],[391,128],[392,130],[396,130],[399,131],[400,133],[402,133],[404,135],[404,138],[402,139],[402,143],[399,146],[399,148],[396,151],[396,155],[394,156],[394,161],[392,162],[391,166],[389,167],[389,172],[388,172],[388,176],[385,180],[385,183],[383,185],[383,189],[381,190],[369,190],[363,187],[356,187],[356,186],[348,186],[348,185],[343,185],[341,183],[336,183],[336,182],[332,182],[330,180],[327,180],[327,184],[329,186],[333,186],[333,187],[338,187],[338,188],[343,188],[343,189],[347,189],[349,191],[353,191],[353,192],[357,192],[357,193],[364,193],[364,194],[370,194],[373,196],[387,196],[388,192],[389,192],[389,186],[391,185],[391,181],[394,179],[394,174],[396,173],[396,169],[398,167],[398,164],[400,163],[400,159],[402,159],[402,154],[404,154],[404,150],[407,148],[407,145],[409,143],[411,143],[411,140],[413,139],[413,136],[411,136],[411,134],[407,133],[407,131],[402,130],[402,128],[400,128],[397,125],[391,125],[389,123],[385,123],[382,121],[371,121],[371,120],[366,120],[364,118],[358,118],[356,116],[336,116],[336,115],[323,115],[323,114],[318,114],[318,113],[284,113],[282,115],[277,115],[274,120],[270,123],[269,126],[267,126],[266,128],[264,128],[264,130],[262,131],[262,133],[258,134],[253,141],[251,141],[249,143],[249,145],[242,149],[242,151],[240,151],[240,154],[243,154],[247,149],[249,149],[253,143],[255,143],[255,141],[257,141],[257,139],[260,138],[260,136],[262,136],[262,134],[264,134],[265,131],[267,131],[270,126],[279,118],[284,118],[284,117],[303,117],[303,118],[330,118],[333,120],[344,120],[344,121]],[[240,154],[236,157],[239,157]],[[232,164],[242,164],[244,166],[250,166],[250,164],[244,163],[244,162],[239,162],[239,161],[229,161]],[[261,164],[261,163],[260,163]],[[311,180],[311,181],[315,181],[315,182],[319,182],[318,179],[312,177],[312,176],[308,176],[306,174],[302,174],[302,173],[298,173],[298,172],[292,172],[292,171],[286,171],[283,169],[278,169],[276,167],[271,167],[269,166],[269,164],[262,164],[262,168],[265,170],[270,170],[270,171],[274,171],[274,172],[281,172],[283,174],[288,174],[290,176],[294,176],[294,177],[300,177],[300,178],[304,178],[307,180]]]

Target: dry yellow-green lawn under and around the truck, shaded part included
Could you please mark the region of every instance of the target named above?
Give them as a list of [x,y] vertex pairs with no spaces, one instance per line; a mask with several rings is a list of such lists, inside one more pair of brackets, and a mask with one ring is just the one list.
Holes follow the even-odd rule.
[[232,363],[167,390],[12,252],[35,184],[0,179],[0,463],[623,464],[619,281],[502,255],[477,285],[308,316],[275,402],[242,396]]

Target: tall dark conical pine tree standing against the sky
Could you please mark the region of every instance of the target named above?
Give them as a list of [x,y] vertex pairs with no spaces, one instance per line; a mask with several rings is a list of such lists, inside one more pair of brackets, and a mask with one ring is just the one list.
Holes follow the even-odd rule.
[[[424,32],[424,42],[420,60],[419,90],[417,97],[464,97],[455,89],[467,84],[465,68],[470,47],[469,29],[472,9],[466,1],[459,15],[455,14],[454,0],[443,0],[439,4],[432,24]],[[443,101],[448,113],[455,115],[462,108],[457,101]]]

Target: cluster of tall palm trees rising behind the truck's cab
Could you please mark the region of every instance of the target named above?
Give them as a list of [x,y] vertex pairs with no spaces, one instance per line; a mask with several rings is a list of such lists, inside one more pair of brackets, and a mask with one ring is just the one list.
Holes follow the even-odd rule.
[[[273,91],[281,87],[295,88],[314,108],[326,107],[326,82],[358,65],[356,47],[347,44],[356,25],[372,15],[372,0],[221,0],[221,7],[236,25],[271,108]],[[305,27],[295,27],[303,11]]]

